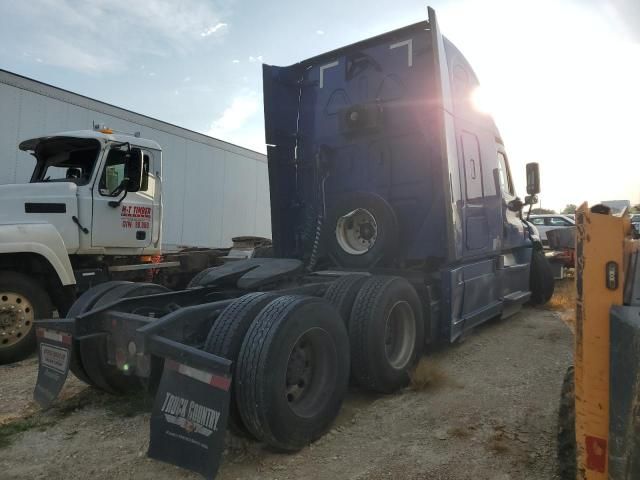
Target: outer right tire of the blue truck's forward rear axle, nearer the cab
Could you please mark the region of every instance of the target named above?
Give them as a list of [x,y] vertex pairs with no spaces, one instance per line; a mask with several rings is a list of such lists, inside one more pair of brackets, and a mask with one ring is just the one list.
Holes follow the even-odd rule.
[[392,393],[409,382],[424,342],[422,304],[401,277],[371,277],[349,320],[351,373],[367,390]]

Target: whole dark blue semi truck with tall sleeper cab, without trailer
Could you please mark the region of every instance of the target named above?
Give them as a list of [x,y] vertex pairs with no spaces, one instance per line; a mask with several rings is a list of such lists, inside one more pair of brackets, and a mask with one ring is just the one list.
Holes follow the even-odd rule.
[[263,67],[273,255],[189,288],[108,282],[37,323],[35,398],[71,370],[155,395],[149,456],[213,477],[227,430],[296,451],[349,382],[394,392],[430,345],[544,303],[553,275],[478,81],[428,21]]

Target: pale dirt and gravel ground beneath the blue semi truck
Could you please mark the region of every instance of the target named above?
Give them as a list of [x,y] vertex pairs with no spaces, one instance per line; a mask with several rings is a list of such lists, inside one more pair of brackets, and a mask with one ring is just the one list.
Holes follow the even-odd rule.
[[[297,454],[235,437],[219,480],[550,480],[572,336],[562,311],[525,308],[426,356],[414,388],[353,390],[333,429]],[[149,400],[67,382],[58,407],[31,401],[37,360],[0,367],[3,479],[174,479],[198,475],[150,460]]]

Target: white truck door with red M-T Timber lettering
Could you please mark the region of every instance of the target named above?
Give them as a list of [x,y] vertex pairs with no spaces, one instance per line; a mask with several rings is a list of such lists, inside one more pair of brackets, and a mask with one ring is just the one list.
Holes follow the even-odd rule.
[[113,206],[124,195],[122,192],[112,196],[111,192],[116,190],[126,176],[126,152],[126,146],[111,148],[95,182],[91,229],[91,244],[94,247],[144,248],[151,244],[155,187],[153,175],[149,174],[153,164],[151,152],[142,149],[144,156],[140,190],[127,192],[124,200],[118,206]]

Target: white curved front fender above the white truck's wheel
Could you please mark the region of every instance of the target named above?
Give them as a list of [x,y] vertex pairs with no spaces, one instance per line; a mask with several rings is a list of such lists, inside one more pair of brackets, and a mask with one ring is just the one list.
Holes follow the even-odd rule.
[[62,285],[75,285],[76,279],[64,241],[49,223],[0,225],[0,255],[36,253],[49,262]]

